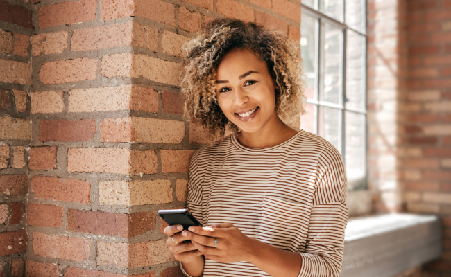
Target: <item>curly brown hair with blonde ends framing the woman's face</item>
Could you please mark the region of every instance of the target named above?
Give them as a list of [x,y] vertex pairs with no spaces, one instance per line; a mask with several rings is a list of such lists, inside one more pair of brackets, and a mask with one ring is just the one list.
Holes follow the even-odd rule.
[[278,116],[288,121],[305,114],[302,59],[299,45],[282,32],[266,30],[254,23],[237,19],[210,21],[197,37],[184,45],[182,93],[185,118],[201,123],[210,134],[222,140],[226,129],[239,132],[223,114],[216,100],[216,69],[232,49],[251,50],[266,62],[275,80],[275,107]]

